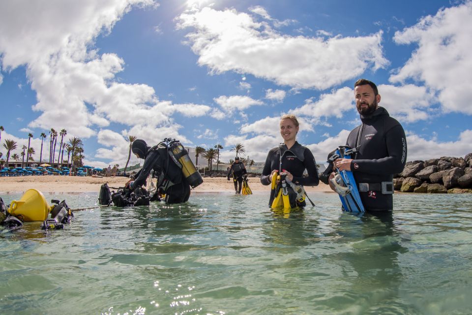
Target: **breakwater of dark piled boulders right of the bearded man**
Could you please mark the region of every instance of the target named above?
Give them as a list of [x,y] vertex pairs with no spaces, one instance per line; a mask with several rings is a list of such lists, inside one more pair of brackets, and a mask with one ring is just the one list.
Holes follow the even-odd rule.
[[472,153],[409,161],[393,179],[395,190],[427,193],[472,193]]

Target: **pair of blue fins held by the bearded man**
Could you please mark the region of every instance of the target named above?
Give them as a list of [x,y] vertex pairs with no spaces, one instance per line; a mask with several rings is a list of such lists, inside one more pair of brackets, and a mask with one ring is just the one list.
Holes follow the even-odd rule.
[[[352,149],[341,146],[335,150],[334,155],[329,158],[328,162],[332,163],[336,158],[351,158],[351,154],[355,153],[355,150],[356,148]],[[339,171],[336,168],[334,168],[334,171],[336,175],[330,181],[339,194],[344,210],[352,213],[364,213],[364,205],[360,199],[353,172],[347,170]]]

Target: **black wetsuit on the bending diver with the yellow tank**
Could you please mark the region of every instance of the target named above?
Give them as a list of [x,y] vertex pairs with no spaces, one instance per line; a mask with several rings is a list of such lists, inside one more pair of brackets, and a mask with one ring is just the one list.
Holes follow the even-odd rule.
[[159,176],[158,189],[165,192],[166,203],[180,203],[188,200],[190,186],[183,177],[182,170],[168,157],[166,148],[154,148],[148,151],[143,168],[136,173],[130,189],[146,186],[146,180],[152,171]]

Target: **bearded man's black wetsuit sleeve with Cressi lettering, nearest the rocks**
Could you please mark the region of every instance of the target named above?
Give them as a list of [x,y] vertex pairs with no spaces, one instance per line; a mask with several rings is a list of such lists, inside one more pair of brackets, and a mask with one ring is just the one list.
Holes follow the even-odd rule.
[[[388,156],[378,159],[355,159],[351,169],[369,174],[396,174],[403,171],[407,158],[407,140],[401,125],[392,127],[385,133]],[[354,167],[357,164],[357,167]]]

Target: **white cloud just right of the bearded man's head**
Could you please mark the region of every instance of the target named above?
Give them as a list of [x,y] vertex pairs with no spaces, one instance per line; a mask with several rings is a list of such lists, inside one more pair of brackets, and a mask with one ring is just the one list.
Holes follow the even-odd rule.
[[390,116],[406,122],[415,122],[429,118],[426,111],[436,99],[426,87],[412,84],[395,87],[393,85],[379,85],[379,94],[382,96],[380,104],[388,110]]

